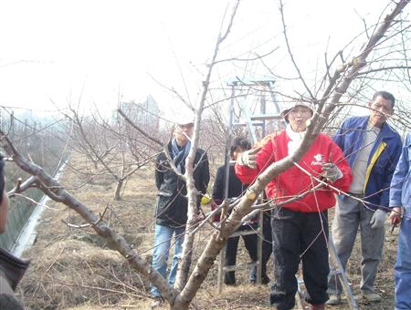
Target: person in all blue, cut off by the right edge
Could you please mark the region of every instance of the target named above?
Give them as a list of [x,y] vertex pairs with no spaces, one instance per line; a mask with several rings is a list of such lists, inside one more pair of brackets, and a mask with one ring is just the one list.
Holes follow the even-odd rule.
[[390,190],[390,222],[401,223],[394,267],[395,310],[411,309],[411,132],[406,134]]

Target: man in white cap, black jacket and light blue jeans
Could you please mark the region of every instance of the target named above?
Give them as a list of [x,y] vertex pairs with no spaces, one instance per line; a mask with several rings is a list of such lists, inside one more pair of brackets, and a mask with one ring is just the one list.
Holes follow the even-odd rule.
[[[193,118],[194,119],[194,118]],[[179,172],[185,172],[185,159],[191,148],[193,136],[193,119],[180,119],[174,130],[174,138],[167,149]],[[195,189],[199,194],[205,194],[210,181],[208,158],[204,150],[197,149],[194,161]],[[155,184],[157,187],[157,202],[155,208],[155,232],[153,245],[153,268],[165,278],[167,260],[174,235],[174,257],[168,275],[168,283],[173,285],[177,273],[178,262],[183,251],[185,223],[187,222],[187,189],[183,181],[171,168],[169,159],[164,152],[155,160]],[[200,200],[197,199],[198,206]],[[154,298],[153,307],[163,302],[160,291],[152,286]]]

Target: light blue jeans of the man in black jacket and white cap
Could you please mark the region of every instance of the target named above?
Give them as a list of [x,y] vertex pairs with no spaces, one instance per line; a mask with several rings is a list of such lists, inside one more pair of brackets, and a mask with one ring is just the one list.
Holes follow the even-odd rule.
[[[163,275],[167,275],[167,260],[172,246],[172,239],[174,234],[174,257],[173,263],[168,274],[168,283],[174,285],[175,274],[177,274],[178,261],[180,260],[183,251],[185,227],[172,227],[165,225],[155,225],[154,232],[154,249],[153,249],[153,268]],[[160,291],[152,285],[150,293],[153,297],[161,296]]]

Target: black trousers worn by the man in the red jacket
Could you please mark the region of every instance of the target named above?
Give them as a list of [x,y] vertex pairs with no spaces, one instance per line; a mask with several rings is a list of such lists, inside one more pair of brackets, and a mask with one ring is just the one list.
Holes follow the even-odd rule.
[[278,309],[295,305],[298,284],[295,274],[302,260],[302,275],[310,304],[328,300],[328,219],[327,212],[293,212],[274,209],[271,216],[275,283],[270,303]]

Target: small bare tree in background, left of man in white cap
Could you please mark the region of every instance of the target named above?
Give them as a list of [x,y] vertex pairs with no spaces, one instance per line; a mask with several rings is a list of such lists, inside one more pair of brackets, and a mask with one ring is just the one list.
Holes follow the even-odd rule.
[[[100,179],[104,174],[116,181],[114,199],[121,200],[121,190],[135,171],[153,160],[156,152],[142,140],[141,135],[130,130],[130,124],[113,118],[113,122],[99,118],[99,115],[81,117],[77,110],[70,109],[70,146],[91,161],[84,173],[89,180]],[[129,109],[129,113],[131,110]],[[144,128],[149,131],[147,127]]]

